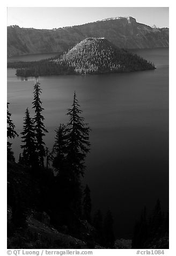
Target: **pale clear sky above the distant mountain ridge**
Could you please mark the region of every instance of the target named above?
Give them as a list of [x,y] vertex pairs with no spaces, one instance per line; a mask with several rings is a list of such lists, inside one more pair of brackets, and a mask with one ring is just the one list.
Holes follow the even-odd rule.
[[149,26],[169,27],[167,7],[9,7],[8,26],[54,29],[131,16]]

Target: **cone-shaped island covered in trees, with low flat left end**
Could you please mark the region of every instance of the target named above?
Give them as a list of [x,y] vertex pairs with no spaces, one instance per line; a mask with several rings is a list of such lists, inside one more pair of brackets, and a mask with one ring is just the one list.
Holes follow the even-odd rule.
[[155,69],[140,56],[120,49],[105,38],[86,38],[60,58],[36,62],[9,62],[18,76],[119,73]]

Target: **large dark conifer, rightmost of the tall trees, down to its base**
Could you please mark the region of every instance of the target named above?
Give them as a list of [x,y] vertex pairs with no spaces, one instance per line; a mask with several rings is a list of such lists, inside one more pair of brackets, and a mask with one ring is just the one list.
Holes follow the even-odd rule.
[[84,118],[80,116],[82,110],[74,93],[74,103],[68,109],[67,115],[70,121],[67,124],[67,172],[69,177],[69,189],[72,194],[71,207],[75,209],[78,216],[81,215],[82,189],[80,186],[80,176],[84,176],[86,154],[90,151],[89,132],[90,127],[84,123]]

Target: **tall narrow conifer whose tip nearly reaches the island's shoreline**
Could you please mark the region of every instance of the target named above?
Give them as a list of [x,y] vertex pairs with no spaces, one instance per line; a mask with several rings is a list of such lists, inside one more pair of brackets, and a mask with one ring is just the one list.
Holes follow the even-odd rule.
[[45,118],[41,115],[41,112],[43,110],[42,108],[42,102],[40,100],[40,94],[41,94],[41,88],[40,83],[38,79],[35,80],[34,84],[34,101],[33,103],[33,109],[35,111],[34,116],[34,124],[35,124],[35,136],[36,136],[36,142],[37,142],[37,149],[38,149],[38,156],[39,156],[39,163],[40,166],[44,166],[44,158],[46,155],[45,152],[45,143],[43,141],[43,136],[45,136],[44,132],[48,132],[45,129],[45,125],[43,124],[43,120]]

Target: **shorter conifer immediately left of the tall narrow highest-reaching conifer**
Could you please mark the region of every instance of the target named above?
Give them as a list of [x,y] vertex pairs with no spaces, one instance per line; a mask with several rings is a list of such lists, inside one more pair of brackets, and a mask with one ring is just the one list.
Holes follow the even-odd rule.
[[33,120],[30,117],[30,112],[28,108],[25,112],[24,118],[24,126],[23,132],[21,134],[21,138],[23,139],[22,142],[24,145],[21,145],[23,148],[23,161],[24,164],[27,166],[36,166],[38,162],[37,152],[36,152],[36,139],[35,139],[35,131],[34,131],[34,124]]

